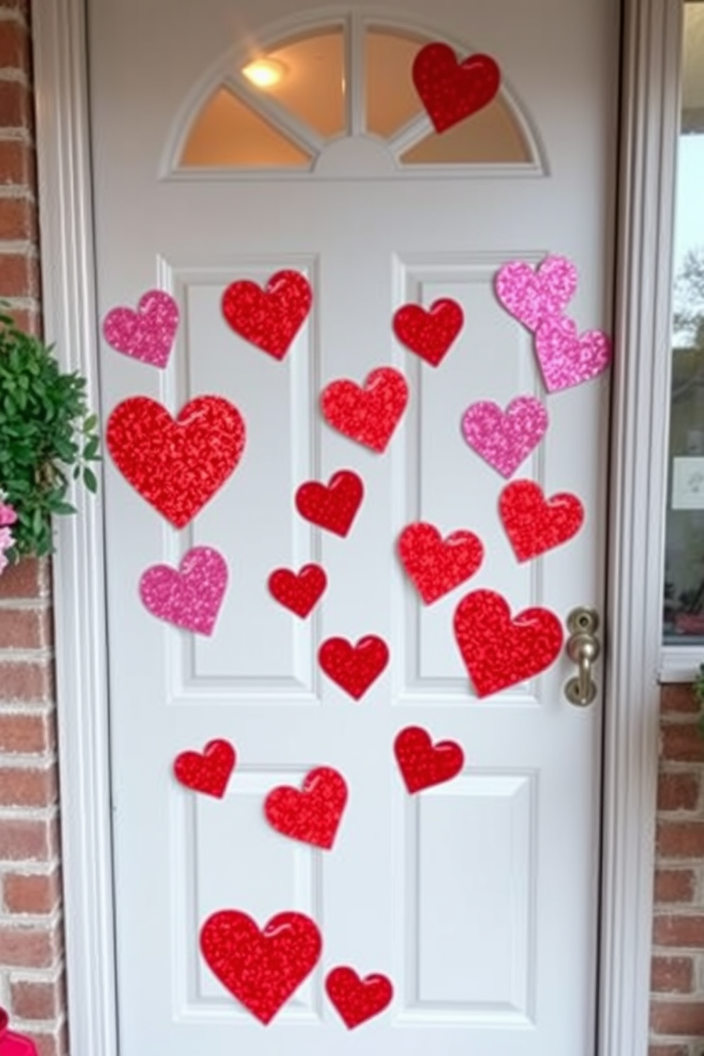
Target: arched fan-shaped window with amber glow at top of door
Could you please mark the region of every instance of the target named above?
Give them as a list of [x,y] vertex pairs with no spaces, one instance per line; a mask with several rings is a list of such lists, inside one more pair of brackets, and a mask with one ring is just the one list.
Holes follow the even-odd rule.
[[171,171],[316,173],[326,151],[350,137],[381,148],[397,173],[497,166],[544,171],[530,121],[506,80],[483,110],[435,132],[412,69],[420,49],[437,39],[355,19],[240,53],[199,92]]

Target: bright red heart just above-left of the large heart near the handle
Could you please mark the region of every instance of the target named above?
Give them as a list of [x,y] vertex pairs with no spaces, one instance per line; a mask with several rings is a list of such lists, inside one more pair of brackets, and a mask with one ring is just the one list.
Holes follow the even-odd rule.
[[432,605],[477,571],[484,555],[481,540],[471,531],[442,539],[434,525],[408,525],[399,536],[399,557],[426,605]]

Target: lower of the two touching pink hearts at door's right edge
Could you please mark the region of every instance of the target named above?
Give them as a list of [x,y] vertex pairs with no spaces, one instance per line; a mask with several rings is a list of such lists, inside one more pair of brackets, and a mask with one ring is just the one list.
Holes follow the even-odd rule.
[[548,392],[590,381],[611,362],[611,340],[603,331],[578,334],[567,316],[545,319],[535,334],[543,378]]

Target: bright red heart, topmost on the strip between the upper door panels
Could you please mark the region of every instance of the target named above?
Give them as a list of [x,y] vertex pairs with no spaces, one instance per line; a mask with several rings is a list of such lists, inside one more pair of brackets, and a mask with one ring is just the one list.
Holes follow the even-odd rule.
[[363,388],[346,378],[323,390],[323,417],[334,429],[381,453],[392,438],[408,402],[408,385],[400,371],[380,366]]

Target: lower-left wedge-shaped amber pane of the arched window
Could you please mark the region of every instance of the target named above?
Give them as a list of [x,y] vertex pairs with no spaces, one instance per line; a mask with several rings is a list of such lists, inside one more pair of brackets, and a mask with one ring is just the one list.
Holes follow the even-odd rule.
[[306,168],[309,154],[221,88],[195,120],[182,165],[201,168]]

